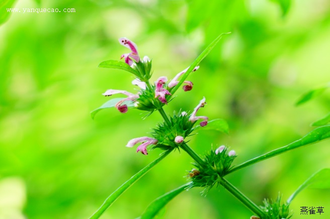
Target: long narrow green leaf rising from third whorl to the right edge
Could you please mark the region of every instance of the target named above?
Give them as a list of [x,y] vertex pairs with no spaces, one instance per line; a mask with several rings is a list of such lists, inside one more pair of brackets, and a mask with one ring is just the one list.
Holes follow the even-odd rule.
[[311,131],[310,133],[308,133],[307,135],[305,135],[304,137],[302,137],[301,139],[299,139],[295,142],[292,142],[291,144],[289,144],[287,146],[275,149],[266,154],[260,155],[251,160],[245,161],[244,163],[241,163],[237,166],[234,166],[231,170],[229,170],[227,172],[227,174],[234,172],[236,170],[242,169],[244,167],[250,166],[252,164],[258,163],[260,161],[269,159],[271,157],[275,157],[275,156],[285,153],[287,151],[290,151],[290,150],[293,150],[293,149],[296,149],[296,148],[299,148],[302,146],[315,144],[317,142],[324,141],[328,138],[330,138],[330,125],[318,127],[316,129],[314,129],[313,131]]

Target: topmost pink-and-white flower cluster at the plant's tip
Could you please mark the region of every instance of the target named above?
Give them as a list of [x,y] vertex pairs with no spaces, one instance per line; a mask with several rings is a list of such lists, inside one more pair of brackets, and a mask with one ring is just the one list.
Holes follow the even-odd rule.
[[[122,93],[127,96],[115,104],[115,107],[120,113],[126,113],[128,111],[127,104],[122,104],[124,101],[132,101],[135,108],[149,112],[153,112],[164,104],[167,104],[172,95],[170,89],[179,83],[179,77],[185,74],[188,68],[178,73],[168,84],[168,78],[166,76],[159,77],[154,82],[154,85],[149,84],[148,81],[151,77],[151,60],[149,57],[144,56],[141,59],[137,51],[137,46],[129,39],[120,38],[119,42],[131,50],[130,53],[121,55],[121,59],[124,58],[125,63],[129,65],[131,72],[136,76],[132,84],[139,86],[140,90],[136,94],[133,94],[125,90],[109,89],[103,95],[111,96]],[[199,66],[195,67],[193,71],[196,71],[198,68]],[[191,81],[184,81],[184,83],[184,91],[189,91],[193,88]]]

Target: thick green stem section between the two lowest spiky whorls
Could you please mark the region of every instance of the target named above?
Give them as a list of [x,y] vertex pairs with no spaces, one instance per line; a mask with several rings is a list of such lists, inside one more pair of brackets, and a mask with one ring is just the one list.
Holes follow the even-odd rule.
[[226,179],[221,178],[220,184],[227,189],[233,196],[235,196],[240,202],[242,202],[247,208],[252,212],[256,213],[259,217],[263,218],[264,212],[255,204],[252,200],[246,197],[242,192],[240,192],[235,186],[233,186]]

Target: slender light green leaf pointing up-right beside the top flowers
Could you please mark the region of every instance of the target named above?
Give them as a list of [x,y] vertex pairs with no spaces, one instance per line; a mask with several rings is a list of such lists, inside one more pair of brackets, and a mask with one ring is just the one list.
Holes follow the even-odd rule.
[[223,35],[230,34],[230,33],[223,33],[220,34],[210,45],[206,47],[206,49],[195,59],[195,61],[190,65],[188,70],[185,74],[183,74],[181,80],[179,83],[174,86],[172,89],[170,89],[170,92],[173,94],[178,90],[178,88],[181,86],[181,84],[186,80],[186,78],[189,76],[189,74],[194,70],[194,68],[211,52],[211,50],[215,47],[215,45],[220,41]]

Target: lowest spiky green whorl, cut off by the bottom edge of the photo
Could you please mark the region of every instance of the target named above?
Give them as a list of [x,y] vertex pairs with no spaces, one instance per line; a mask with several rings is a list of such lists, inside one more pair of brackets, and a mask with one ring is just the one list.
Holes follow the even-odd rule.
[[265,199],[264,206],[261,206],[265,213],[263,219],[289,219],[292,213],[289,210],[289,203],[281,203],[281,196],[278,194],[276,200]]

